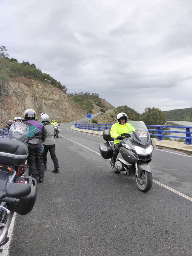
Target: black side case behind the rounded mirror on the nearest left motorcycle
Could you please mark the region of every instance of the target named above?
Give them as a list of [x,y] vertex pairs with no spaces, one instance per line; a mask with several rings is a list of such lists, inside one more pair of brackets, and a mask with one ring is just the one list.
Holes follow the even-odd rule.
[[35,204],[37,196],[37,182],[36,179],[31,176],[17,178],[15,182],[29,184],[31,186],[31,193],[28,196],[20,197],[20,202],[18,204],[8,203],[7,208],[10,211],[19,213],[20,215],[25,215],[33,209]]

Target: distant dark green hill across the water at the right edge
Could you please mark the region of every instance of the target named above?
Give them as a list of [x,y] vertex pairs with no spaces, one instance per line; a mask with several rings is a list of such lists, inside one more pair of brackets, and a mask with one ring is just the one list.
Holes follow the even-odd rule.
[[167,121],[192,121],[192,108],[163,111]]

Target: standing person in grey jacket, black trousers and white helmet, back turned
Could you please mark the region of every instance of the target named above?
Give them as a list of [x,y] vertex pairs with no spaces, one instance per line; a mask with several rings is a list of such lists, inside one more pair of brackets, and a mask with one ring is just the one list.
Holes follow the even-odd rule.
[[47,114],[45,114],[45,113],[41,114],[40,119],[46,129],[46,132],[47,132],[46,138],[43,143],[44,144],[43,161],[44,161],[45,170],[47,169],[47,153],[49,151],[50,155],[51,155],[51,159],[54,164],[54,170],[52,170],[52,172],[60,172],[58,159],[55,154],[55,137],[54,137],[55,129],[54,129],[54,126],[52,126],[52,124],[49,122],[49,116]]

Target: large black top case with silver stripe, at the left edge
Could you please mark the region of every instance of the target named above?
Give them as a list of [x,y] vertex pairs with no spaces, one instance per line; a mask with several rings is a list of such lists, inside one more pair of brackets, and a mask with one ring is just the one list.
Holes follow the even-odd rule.
[[23,142],[0,138],[0,164],[22,165],[28,157],[28,148]]

